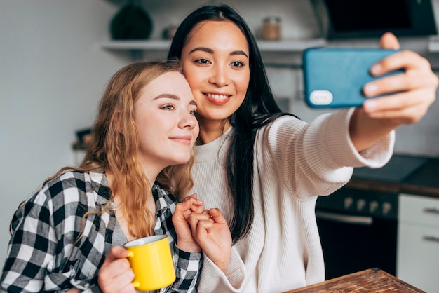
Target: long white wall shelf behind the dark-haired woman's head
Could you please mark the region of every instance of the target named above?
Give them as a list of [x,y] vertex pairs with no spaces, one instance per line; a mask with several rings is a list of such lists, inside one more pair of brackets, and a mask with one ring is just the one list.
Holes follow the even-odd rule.
[[[258,40],[259,49],[262,52],[302,52],[306,48],[321,47],[326,45],[325,39],[308,40],[282,40],[263,41]],[[146,40],[146,41],[104,41],[102,48],[105,50],[168,50],[170,40]]]

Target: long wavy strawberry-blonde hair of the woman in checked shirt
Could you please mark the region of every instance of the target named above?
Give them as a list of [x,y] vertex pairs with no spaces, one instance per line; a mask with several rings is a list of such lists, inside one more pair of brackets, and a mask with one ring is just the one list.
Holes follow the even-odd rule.
[[[108,170],[113,179],[110,187],[112,197],[120,198],[120,205],[128,223],[129,232],[136,238],[154,233],[155,214],[147,209],[147,196],[151,184],[137,160],[139,137],[134,123],[134,104],[141,90],[158,76],[169,71],[180,71],[175,60],[133,62],[119,69],[107,83],[100,100],[97,118],[92,128],[93,141],[79,168],[62,168],[57,175],[69,169],[90,171]],[[151,142],[154,143],[154,142]],[[162,170],[156,181],[181,200],[194,185],[191,160],[182,165],[171,165]],[[53,179],[57,175],[50,177]],[[46,181],[48,181],[46,180]],[[104,207],[104,211],[108,205]]]

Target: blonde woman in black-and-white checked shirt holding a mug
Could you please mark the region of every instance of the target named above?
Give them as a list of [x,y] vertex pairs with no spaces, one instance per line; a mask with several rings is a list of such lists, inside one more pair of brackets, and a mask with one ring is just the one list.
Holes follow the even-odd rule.
[[[117,71],[81,166],[62,168],[15,212],[1,289],[100,291],[97,275],[112,247],[123,254],[126,241],[154,234],[169,236],[175,260],[177,279],[163,291],[194,289],[205,243],[220,265],[227,261],[231,235],[221,212],[204,211],[196,195],[185,198],[196,109],[177,62],[135,62]],[[189,222],[195,237],[207,235],[201,245]],[[112,264],[129,268],[124,257]],[[109,273],[112,287],[104,289],[135,292],[133,276],[129,269]]]

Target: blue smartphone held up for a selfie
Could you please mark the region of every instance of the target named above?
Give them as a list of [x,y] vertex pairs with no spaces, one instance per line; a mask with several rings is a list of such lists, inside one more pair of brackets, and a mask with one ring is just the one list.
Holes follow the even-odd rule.
[[[396,50],[374,48],[309,48],[304,50],[305,100],[313,108],[360,107],[366,99],[363,86],[382,76],[370,67]],[[403,70],[392,71],[398,74]]]

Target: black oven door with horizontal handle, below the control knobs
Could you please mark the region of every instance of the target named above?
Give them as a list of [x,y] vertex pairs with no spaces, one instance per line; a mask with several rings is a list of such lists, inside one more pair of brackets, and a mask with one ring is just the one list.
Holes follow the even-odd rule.
[[397,221],[316,210],[326,280],[367,268],[396,274]]

